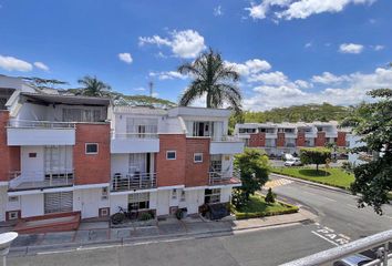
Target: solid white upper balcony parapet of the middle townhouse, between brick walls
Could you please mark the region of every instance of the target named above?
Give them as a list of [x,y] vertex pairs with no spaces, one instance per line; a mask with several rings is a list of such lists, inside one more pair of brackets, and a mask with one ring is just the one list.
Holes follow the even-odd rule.
[[112,133],[111,153],[157,153],[157,133]]

